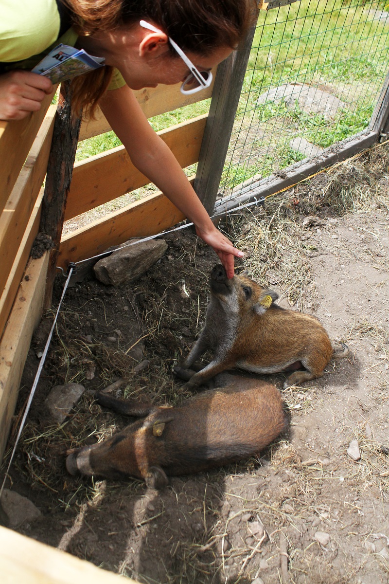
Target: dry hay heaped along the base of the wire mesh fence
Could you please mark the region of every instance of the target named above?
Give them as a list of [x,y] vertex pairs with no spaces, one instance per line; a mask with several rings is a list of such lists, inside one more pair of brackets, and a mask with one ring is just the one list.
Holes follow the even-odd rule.
[[[310,258],[315,247],[306,241],[303,220],[343,215],[369,206],[389,211],[389,144],[379,144],[268,197],[263,207],[251,207],[228,218],[227,235],[246,253],[250,276],[278,286],[293,307],[314,308],[317,291]],[[314,221],[314,217],[313,217]]]

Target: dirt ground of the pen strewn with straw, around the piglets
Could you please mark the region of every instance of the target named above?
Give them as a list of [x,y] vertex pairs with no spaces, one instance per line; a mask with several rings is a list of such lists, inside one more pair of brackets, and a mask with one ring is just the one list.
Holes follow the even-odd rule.
[[[171,370],[204,324],[217,258],[183,230],[164,237],[166,255],[131,286],[73,282],[10,470],[12,489],[43,513],[20,533],[150,584],[389,582],[388,162],[381,145],[222,223],[246,252],[237,269],[350,349],[301,387],[283,391],[281,374],[267,376],[290,426],[261,457],[171,478],[162,492],[69,476],[67,449],[128,423],[100,408],[94,390],[125,377],[124,397],[188,396]],[[9,448],[51,322],[34,336]],[[44,399],[69,381],[87,392],[58,427]],[[352,440],[358,461],[346,453]]]

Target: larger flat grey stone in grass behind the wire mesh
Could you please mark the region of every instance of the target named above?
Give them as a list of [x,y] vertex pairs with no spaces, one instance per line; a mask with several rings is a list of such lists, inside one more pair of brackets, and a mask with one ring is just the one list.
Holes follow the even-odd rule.
[[326,119],[334,117],[337,110],[346,105],[331,93],[302,83],[287,83],[271,88],[258,97],[257,105],[281,101],[285,103],[288,109],[293,109],[297,101],[303,112],[323,114]]

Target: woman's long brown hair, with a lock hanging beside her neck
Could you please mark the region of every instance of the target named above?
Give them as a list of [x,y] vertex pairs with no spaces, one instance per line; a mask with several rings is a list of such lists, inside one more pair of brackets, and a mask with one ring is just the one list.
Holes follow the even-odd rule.
[[[112,30],[149,19],[183,48],[204,56],[215,48],[234,48],[257,16],[255,0],[62,0],[79,34]],[[171,53],[176,55],[171,48]],[[73,105],[93,117],[113,68],[96,69],[72,81]]]

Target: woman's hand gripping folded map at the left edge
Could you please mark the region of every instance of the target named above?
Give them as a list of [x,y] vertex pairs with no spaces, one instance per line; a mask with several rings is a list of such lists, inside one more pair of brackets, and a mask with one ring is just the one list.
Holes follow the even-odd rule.
[[30,112],[37,112],[45,95],[52,91],[50,79],[31,71],[0,75],[0,120],[22,120]]

